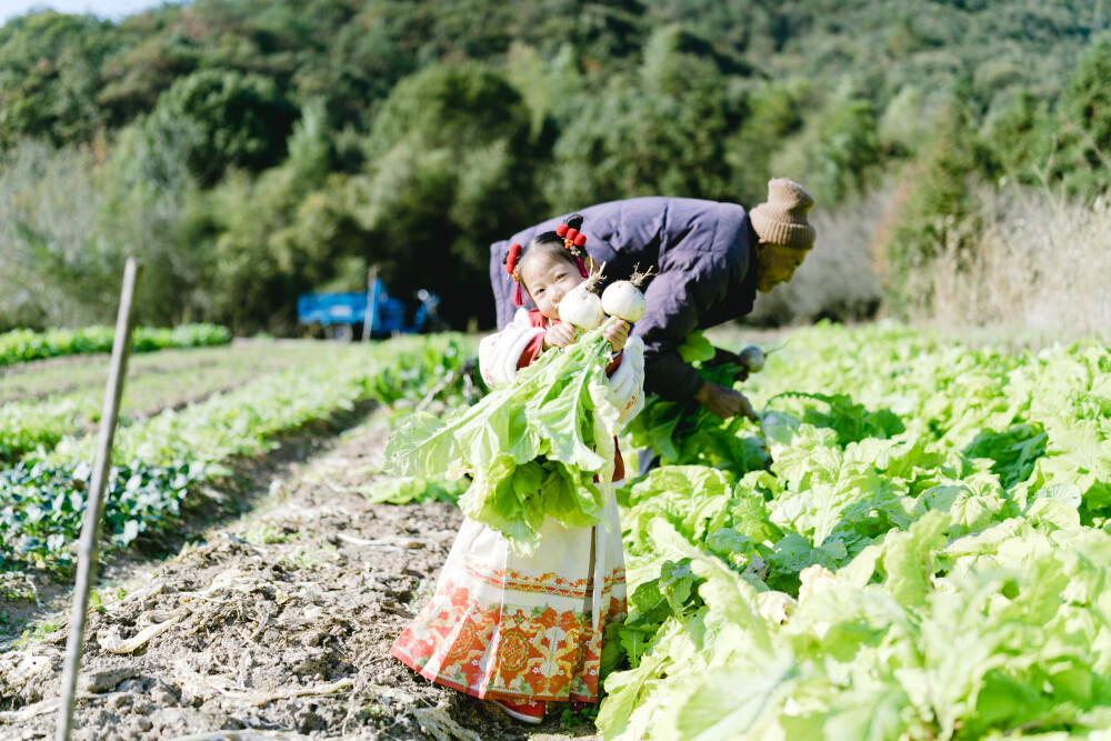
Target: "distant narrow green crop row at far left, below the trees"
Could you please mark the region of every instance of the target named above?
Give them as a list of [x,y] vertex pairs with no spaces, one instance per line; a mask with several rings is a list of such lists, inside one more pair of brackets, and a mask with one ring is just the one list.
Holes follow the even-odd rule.
[[[86,352],[108,352],[112,349],[116,329],[51,329],[34,332],[17,329],[0,334],[0,367],[30,360],[74,356]],[[132,352],[151,352],[164,348],[199,348],[231,342],[231,332],[217,324],[180,324],[173,329],[138,327],[131,341]]]

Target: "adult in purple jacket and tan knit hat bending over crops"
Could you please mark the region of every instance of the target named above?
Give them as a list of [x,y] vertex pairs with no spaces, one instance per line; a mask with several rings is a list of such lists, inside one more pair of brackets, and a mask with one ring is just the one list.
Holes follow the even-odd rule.
[[[735,203],[662,197],[580,211],[591,256],[605,263],[605,281],[627,279],[638,266],[659,273],[644,290],[648,311],[632,331],[644,341],[645,391],[672,401],[694,398],[721,418],[743,413],[757,419],[743,395],[704,380],[683,361],[679,347],[695,330],[749,313],[757,291],[767,293],[791,280],[814,244],[815,231],[807,221],[813,204],[802,186],[778,178],[768,183],[768,201],[750,212]],[[502,257],[510,244],[554,231],[564,218],[490,246],[499,329],[518,309]]]

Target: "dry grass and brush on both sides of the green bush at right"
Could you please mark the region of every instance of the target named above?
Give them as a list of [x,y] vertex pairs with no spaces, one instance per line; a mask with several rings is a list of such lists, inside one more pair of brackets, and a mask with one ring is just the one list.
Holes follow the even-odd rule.
[[[812,254],[794,280],[757,299],[745,323],[852,322],[877,308],[883,314],[873,242],[891,192],[889,183],[837,211],[815,208]],[[1111,343],[1111,194],[1088,204],[984,187],[977,200],[982,226],[948,230],[952,239],[917,270],[900,301],[907,318],[974,346]],[[961,250],[961,242],[975,248]]]

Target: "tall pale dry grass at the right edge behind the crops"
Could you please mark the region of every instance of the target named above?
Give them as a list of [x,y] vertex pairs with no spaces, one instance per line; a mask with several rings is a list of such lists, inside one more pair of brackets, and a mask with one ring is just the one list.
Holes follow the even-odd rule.
[[974,250],[955,240],[914,281],[914,319],[975,341],[1111,342],[1111,203],[984,192]]

